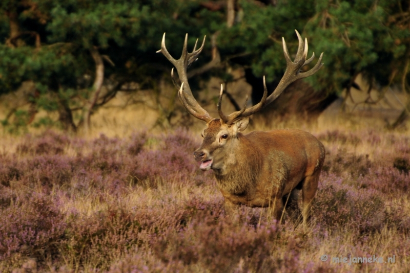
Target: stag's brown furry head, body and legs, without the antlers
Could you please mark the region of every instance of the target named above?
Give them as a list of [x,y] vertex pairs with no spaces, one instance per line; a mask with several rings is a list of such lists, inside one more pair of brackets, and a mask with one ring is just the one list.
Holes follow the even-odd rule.
[[[194,153],[197,161],[213,160],[211,168],[225,199],[226,213],[232,214],[240,204],[269,207],[273,217],[280,220],[286,204],[298,218],[296,191],[301,189],[306,223],[323,166],[323,145],[312,134],[295,129],[244,135],[240,131],[247,125],[248,119],[231,126],[219,119],[208,122],[204,141]],[[223,139],[223,134],[228,138]]]

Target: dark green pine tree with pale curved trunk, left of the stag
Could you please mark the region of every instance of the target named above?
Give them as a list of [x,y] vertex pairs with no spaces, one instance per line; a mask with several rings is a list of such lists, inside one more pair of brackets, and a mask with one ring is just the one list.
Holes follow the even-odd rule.
[[[178,32],[171,39],[212,25],[206,20],[215,16],[206,16],[207,10],[192,17],[197,7],[175,0],[4,2],[0,89],[8,93],[33,81],[36,108],[58,111],[64,129],[87,130],[92,112],[124,84],[152,88],[165,71],[169,75],[166,61],[155,54],[158,39],[173,28]],[[80,112],[77,124],[73,112]]]

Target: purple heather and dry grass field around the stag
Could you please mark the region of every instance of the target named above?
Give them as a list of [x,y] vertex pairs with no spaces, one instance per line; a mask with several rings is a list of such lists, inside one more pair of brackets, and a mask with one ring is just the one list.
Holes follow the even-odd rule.
[[304,127],[326,148],[306,228],[224,217],[183,129],[3,135],[0,271],[408,272],[410,133],[363,124]]

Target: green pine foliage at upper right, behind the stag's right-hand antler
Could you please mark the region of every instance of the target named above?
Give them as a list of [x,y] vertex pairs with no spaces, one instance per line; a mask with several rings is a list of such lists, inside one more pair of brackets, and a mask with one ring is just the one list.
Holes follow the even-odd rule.
[[[370,81],[388,84],[408,60],[410,31],[394,16],[408,4],[396,1],[278,1],[261,7],[241,1],[243,19],[220,35],[226,54],[247,52],[247,60],[259,77],[281,78],[285,67],[281,37],[290,53],[297,50],[294,29],[308,38],[310,52],[324,52],[324,69],[307,78],[316,89],[339,93],[363,73]],[[396,23],[396,24],[395,24]],[[388,69],[386,69],[388,67]]]

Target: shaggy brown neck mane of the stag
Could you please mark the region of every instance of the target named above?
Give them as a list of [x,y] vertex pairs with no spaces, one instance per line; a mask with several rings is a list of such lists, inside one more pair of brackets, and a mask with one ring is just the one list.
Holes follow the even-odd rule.
[[220,190],[243,194],[255,184],[262,168],[260,151],[242,133],[237,134],[233,149],[225,155],[224,168],[214,170]]

